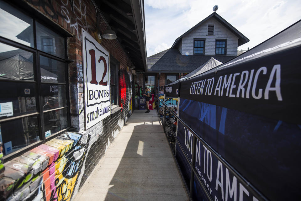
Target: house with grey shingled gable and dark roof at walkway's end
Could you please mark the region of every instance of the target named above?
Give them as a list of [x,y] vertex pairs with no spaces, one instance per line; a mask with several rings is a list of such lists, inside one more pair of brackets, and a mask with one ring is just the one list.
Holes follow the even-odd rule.
[[[147,57],[147,72],[138,73],[138,86],[148,86],[155,96],[173,82],[203,65],[211,57],[227,62],[237,47],[249,39],[216,12],[178,37],[170,49]],[[159,87],[158,87],[159,86]]]

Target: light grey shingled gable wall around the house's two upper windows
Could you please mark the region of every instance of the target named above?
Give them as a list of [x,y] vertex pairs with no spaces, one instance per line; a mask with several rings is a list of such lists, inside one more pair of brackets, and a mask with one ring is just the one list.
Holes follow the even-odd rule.
[[[214,36],[207,35],[208,24],[214,24]],[[182,55],[185,55],[186,52],[193,55],[193,39],[205,39],[205,55],[215,55],[215,40],[226,39],[227,56],[237,56],[238,37],[214,18],[208,19],[182,38]]]

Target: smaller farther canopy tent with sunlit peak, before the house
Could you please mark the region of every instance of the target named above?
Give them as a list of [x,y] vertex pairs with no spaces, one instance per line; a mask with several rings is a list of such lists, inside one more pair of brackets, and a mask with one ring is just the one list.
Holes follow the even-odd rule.
[[201,65],[194,71],[190,72],[186,76],[184,76],[181,79],[178,79],[170,84],[166,84],[164,86],[164,93],[165,93],[166,97],[179,97],[180,96],[179,90],[180,90],[180,85],[181,85],[182,81],[184,81],[190,77],[197,76],[203,72],[209,71],[210,69],[212,69],[216,66],[219,66],[221,64],[222,64],[222,62],[211,57],[211,59],[206,61],[203,65]]

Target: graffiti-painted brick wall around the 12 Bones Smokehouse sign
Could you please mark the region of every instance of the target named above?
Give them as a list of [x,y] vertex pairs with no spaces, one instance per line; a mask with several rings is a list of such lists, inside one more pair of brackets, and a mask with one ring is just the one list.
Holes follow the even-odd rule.
[[[26,2],[73,35],[67,39],[67,50],[68,59],[74,60],[68,66],[71,126],[74,129],[5,163],[0,154],[0,200],[70,201],[132,114],[133,78],[128,68],[131,61],[118,40],[101,41],[110,55],[120,62],[120,107],[112,109],[111,116],[85,130],[81,33],[84,28],[94,37],[94,5],[89,0]],[[103,23],[101,31],[106,28]]]

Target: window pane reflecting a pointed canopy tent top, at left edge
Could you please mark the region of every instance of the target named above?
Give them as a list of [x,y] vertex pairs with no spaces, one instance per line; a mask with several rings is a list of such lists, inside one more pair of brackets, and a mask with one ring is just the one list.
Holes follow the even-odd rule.
[[0,79],[34,80],[33,54],[0,43]]

